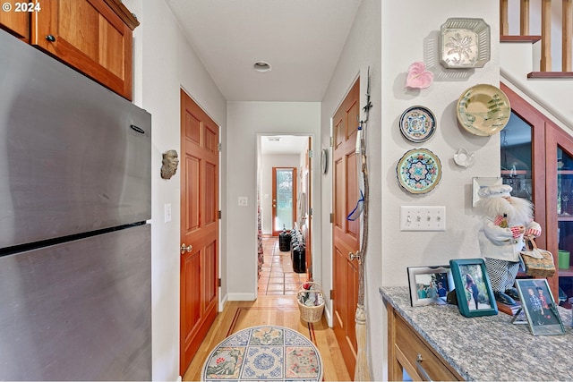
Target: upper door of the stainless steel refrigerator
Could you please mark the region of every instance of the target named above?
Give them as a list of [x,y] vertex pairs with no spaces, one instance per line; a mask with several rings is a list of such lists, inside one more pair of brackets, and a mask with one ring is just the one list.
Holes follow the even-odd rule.
[[151,217],[151,116],[0,30],[0,249]]

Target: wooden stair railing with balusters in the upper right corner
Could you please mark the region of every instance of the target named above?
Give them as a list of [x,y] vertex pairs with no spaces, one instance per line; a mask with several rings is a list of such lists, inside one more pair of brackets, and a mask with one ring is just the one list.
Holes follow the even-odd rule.
[[541,15],[541,36],[529,35],[529,20],[531,16],[529,0],[519,2],[519,36],[509,36],[509,4],[508,0],[500,0],[500,40],[531,40],[541,39],[540,72],[531,72],[528,78],[559,78],[573,77],[571,64],[573,44],[573,0],[561,0],[561,72],[552,72],[552,0],[541,0],[541,9],[534,14]]

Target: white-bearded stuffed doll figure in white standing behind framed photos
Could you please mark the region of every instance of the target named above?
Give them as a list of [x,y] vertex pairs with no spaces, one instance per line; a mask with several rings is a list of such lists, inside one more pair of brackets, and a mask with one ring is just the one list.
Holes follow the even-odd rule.
[[512,197],[511,191],[508,184],[483,187],[475,207],[482,217],[478,239],[495,300],[515,305],[519,251],[525,246],[524,236],[541,235],[541,225],[533,219],[533,204]]

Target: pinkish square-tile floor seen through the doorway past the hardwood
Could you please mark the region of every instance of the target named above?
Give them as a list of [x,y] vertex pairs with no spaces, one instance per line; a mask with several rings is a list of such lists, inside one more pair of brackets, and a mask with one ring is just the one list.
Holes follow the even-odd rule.
[[259,276],[260,295],[295,295],[301,283],[306,281],[305,273],[295,273],[290,251],[278,249],[278,237],[263,237],[264,264]]

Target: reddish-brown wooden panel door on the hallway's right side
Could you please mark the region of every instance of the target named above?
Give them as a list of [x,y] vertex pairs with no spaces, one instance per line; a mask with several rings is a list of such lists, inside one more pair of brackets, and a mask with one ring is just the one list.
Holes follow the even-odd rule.
[[333,312],[334,333],[342,351],[346,368],[354,375],[356,363],[355,311],[358,303],[358,262],[349,253],[360,249],[360,220],[346,216],[355,208],[358,191],[355,154],[359,121],[359,80],[346,95],[334,115],[333,149]]

